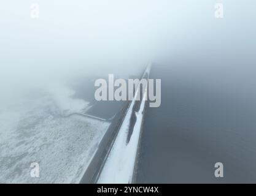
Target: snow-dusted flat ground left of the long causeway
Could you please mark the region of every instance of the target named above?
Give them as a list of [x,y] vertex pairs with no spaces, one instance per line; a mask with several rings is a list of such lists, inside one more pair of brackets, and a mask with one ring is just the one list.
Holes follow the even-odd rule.
[[[88,102],[55,86],[0,107],[0,183],[79,183],[109,123],[73,112]],[[39,164],[39,178],[30,165]]]

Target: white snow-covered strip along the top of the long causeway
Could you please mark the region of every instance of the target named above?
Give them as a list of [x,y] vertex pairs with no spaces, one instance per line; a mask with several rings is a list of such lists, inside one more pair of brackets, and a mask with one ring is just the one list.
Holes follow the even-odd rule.
[[[150,65],[145,70],[145,73],[149,74]],[[144,74],[145,75],[145,74]],[[138,94],[138,89],[134,97]],[[120,127],[117,138],[115,138],[114,145],[111,152],[107,157],[106,163],[99,176],[98,183],[131,183],[133,178],[133,171],[135,167],[135,161],[137,156],[137,149],[139,144],[139,135],[141,133],[143,111],[145,107],[145,100],[147,96],[147,88],[143,92],[143,99],[139,111],[136,112],[136,123],[133,128],[130,141],[126,143],[128,137],[128,130],[130,126],[131,115],[134,112],[133,106],[135,99],[130,104],[127,110],[123,124]]]

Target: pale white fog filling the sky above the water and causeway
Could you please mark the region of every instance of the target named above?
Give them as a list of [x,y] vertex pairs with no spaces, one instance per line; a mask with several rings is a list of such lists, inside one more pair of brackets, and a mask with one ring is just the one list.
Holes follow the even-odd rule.
[[36,3],[35,19],[33,1],[0,2],[1,97],[67,78],[136,74],[149,61],[239,55],[250,62],[255,53],[250,0],[223,1],[222,19],[214,0]]

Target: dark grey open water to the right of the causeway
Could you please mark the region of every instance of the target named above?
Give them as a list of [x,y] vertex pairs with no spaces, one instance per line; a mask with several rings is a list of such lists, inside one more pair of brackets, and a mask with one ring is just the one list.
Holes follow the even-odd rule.
[[161,106],[147,108],[137,183],[256,183],[256,69],[245,64],[154,64]]

